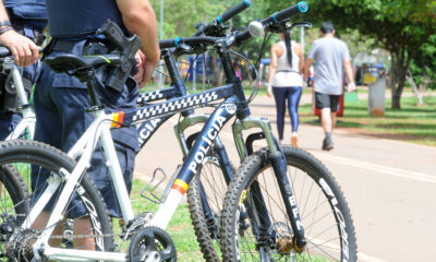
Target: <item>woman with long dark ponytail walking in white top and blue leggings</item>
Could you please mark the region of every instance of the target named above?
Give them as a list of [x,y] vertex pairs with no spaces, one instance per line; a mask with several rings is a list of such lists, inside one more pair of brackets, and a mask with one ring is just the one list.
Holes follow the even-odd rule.
[[291,118],[291,145],[298,146],[299,104],[303,87],[303,50],[300,44],[291,41],[291,33],[280,34],[281,41],[271,46],[271,63],[269,66],[267,95],[276,100],[277,131],[279,142],[283,143],[284,111],[288,100],[288,110]]

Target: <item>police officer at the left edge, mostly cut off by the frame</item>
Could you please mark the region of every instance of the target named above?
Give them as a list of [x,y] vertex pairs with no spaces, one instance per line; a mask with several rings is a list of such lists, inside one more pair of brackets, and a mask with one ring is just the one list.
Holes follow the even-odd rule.
[[[15,62],[23,69],[23,84],[27,92],[35,81],[38,63],[38,47],[35,41],[43,39],[47,26],[45,0],[0,1],[0,44],[8,47]],[[38,43],[39,44],[39,43]],[[21,121],[16,112],[16,92],[5,88],[7,75],[0,85],[0,140],[4,140]]]

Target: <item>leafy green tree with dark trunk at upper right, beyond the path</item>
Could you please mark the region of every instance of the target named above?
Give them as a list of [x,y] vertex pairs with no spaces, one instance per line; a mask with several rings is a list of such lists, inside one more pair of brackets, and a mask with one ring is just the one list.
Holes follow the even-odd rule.
[[[289,3],[274,3],[284,8]],[[272,4],[271,4],[272,5]],[[400,109],[405,73],[420,47],[436,31],[436,1],[432,0],[313,0],[307,20],[329,20],[337,28],[358,29],[373,37],[391,56],[390,90],[393,109]]]

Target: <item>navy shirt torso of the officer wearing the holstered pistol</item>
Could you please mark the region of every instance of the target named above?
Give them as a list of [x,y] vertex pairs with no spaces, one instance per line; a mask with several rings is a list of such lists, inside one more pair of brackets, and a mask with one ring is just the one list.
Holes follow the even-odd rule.
[[52,37],[82,37],[94,34],[107,19],[122,28],[116,0],[46,0]]

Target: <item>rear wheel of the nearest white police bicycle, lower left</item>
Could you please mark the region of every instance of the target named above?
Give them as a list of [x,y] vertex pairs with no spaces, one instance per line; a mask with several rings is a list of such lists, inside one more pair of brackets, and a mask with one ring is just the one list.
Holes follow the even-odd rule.
[[[0,144],[0,167],[11,174],[17,174],[28,190],[28,196],[23,201],[13,201],[14,210],[25,210],[39,199],[45,189],[57,176],[63,176],[61,170],[71,172],[75,167],[74,160],[63,152],[35,141],[8,141]],[[8,174],[8,172],[3,172]],[[5,183],[7,186],[8,183]],[[60,184],[60,189],[63,182]],[[3,228],[11,228],[14,235],[2,230],[2,257],[17,261],[31,261],[33,258],[32,245],[44,230],[55,228],[50,236],[51,247],[80,250],[105,250],[113,249],[113,237],[111,222],[105,201],[94,186],[90,178],[84,175],[77,182],[73,195],[70,196],[68,205],[62,212],[63,219],[56,225],[46,225],[50,210],[60,195],[57,190],[50,202],[39,214],[33,227],[22,230],[20,221],[8,219],[3,222]],[[31,204],[29,204],[31,203]],[[1,217],[8,216],[5,212]],[[10,218],[11,216],[8,216]],[[57,260],[55,258],[55,260]],[[68,259],[66,259],[68,260]],[[71,260],[70,260],[71,261]]]

